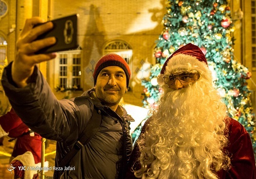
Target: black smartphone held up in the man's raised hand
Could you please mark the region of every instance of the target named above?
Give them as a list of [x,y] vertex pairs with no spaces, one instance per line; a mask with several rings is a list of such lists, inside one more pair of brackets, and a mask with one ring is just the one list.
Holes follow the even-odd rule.
[[[48,54],[52,52],[77,49],[79,47],[77,38],[78,17],[79,14],[75,14],[51,20],[53,23],[53,28],[50,31],[38,36],[36,40],[54,36],[56,38],[56,43],[52,46],[39,50],[35,54]],[[40,25],[42,24],[37,24],[35,27]]]

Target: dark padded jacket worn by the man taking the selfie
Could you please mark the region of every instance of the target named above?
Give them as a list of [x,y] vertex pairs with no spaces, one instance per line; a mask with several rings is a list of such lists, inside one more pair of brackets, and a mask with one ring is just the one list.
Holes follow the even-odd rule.
[[[31,76],[31,83],[24,88],[17,88],[11,78],[9,64],[4,70],[2,84],[12,107],[23,122],[42,137],[57,141],[57,167],[91,118],[92,101],[85,99],[84,104],[78,106],[74,99],[57,100],[37,67]],[[89,96],[93,90],[89,89],[83,95]],[[125,157],[128,160],[132,152],[128,124],[132,118],[124,109],[123,115],[119,116],[100,102],[95,105],[101,110],[100,128],[71,160],[69,166],[73,170],[62,168],[65,170],[63,178],[121,178],[125,170],[122,159]]]

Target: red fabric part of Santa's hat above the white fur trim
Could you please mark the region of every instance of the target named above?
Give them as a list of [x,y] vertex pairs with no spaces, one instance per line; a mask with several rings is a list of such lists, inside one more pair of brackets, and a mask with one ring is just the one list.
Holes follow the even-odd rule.
[[169,62],[169,60],[172,59],[172,57],[174,57],[175,55],[178,54],[184,54],[184,55],[190,55],[193,56],[195,58],[197,58],[200,62],[204,62],[206,63],[206,65],[208,65],[207,60],[205,58],[204,53],[201,51],[201,49],[198,46],[195,46],[192,43],[187,43],[185,46],[181,47],[180,49],[178,49],[177,51],[175,51],[164,63],[163,68],[161,70],[161,74],[165,73],[166,70],[166,66]]

